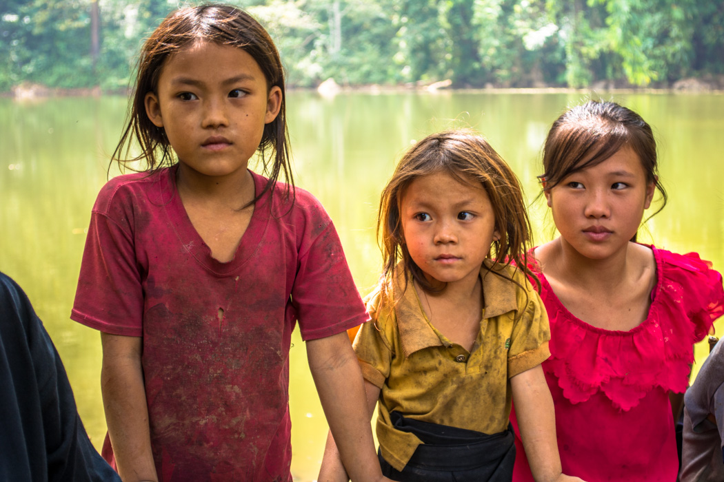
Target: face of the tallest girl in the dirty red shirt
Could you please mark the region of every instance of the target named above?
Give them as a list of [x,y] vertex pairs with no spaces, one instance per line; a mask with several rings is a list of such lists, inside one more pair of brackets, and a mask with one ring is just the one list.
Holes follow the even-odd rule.
[[282,105],[256,61],[240,48],[194,43],[164,63],[146,114],[163,127],[182,166],[202,176],[244,173]]

